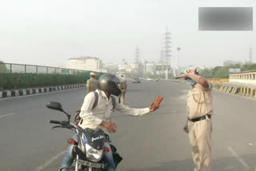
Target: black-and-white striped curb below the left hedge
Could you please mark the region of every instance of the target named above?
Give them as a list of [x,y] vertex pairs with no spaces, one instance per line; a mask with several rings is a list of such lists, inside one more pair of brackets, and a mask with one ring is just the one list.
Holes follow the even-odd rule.
[[0,98],[8,98],[8,97],[18,97],[18,96],[27,96],[38,93],[49,93],[64,89],[76,89],[85,87],[86,84],[77,84],[77,85],[58,85],[58,86],[50,86],[50,87],[40,87],[40,88],[30,88],[30,89],[11,89],[11,90],[3,90],[0,91]]

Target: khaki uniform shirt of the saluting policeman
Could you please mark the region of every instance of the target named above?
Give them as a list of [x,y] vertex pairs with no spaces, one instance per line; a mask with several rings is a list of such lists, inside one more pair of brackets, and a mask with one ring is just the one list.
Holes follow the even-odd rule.
[[209,88],[205,89],[200,84],[191,87],[187,94],[187,114],[190,119],[212,114],[212,84],[208,82]]

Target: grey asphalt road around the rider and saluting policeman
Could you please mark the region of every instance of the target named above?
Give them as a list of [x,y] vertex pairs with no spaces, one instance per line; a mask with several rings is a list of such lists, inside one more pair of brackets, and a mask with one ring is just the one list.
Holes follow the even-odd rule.
[[[127,103],[146,107],[162,95],[161,109],[143,117],[114,113],[118,132],[110,138],[124,158],[122,171],[190,171],[190,144],[182,127],[186,122],[188,86],[178,82],[129,82]],[[0,170],[58,170],[70,130],[51,129],[50,119],[65,116],[46,108],[59,101],[74,116],[82,105],[85,89],[72,89],[30,97],[0,100]],[[214,91],[213,170],[255,170],[256,101]]]

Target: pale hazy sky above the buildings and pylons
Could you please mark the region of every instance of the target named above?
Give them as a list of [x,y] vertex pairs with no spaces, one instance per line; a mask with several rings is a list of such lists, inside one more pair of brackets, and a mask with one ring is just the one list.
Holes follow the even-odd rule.
[[[158,62],[166,26],[172,34],[172,66],[245,62],[254,31],[198,31],[198,7],[256,7],[255,0],[0,0],[0,61],[58,66],[94,56],[104,63]],[[254,9],[255,10],[255,9]],[[254,14],[255,22],[255,14]]]

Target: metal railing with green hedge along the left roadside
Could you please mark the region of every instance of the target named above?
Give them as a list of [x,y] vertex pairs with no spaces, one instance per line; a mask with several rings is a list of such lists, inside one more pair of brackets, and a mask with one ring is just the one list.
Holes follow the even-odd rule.
[[[95,72],[96,77],[103,73]],[[89,70],[0,62],[0,90],[85,83]]]

